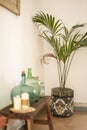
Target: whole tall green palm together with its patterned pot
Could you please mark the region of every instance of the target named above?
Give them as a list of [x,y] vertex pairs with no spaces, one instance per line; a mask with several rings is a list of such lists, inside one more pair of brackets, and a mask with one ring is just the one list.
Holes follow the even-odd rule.
[[59,85],[52,88],[51,111],[56,116],[70,116],[73,113],[74,91],[66,87],[66,81],[75,53],[82,47],[87,47],[87,32],[81,33],[86,24],[76,24],[70,30],[62,20],[54,16],[38,12],[32,18],[38,27],[40,36],[53,48],[54,53],[46,53],[41,62],[46,63],[46,57],[57,60]]

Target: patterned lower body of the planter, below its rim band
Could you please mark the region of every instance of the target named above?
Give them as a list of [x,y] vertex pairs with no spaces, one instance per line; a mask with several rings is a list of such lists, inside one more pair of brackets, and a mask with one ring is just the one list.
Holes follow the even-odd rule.
[[[56,97],[54,97],[55,99]],[[68,117],[73,114],[73,97],[69,98],[57,98],[55,101],[51,101],[51,112],[54,116]]]

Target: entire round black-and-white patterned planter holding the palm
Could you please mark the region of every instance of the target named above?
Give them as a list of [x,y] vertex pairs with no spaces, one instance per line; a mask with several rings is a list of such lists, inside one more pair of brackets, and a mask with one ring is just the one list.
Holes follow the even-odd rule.
[[74,91],[70,88],[51,90],[51,112],[54,116],[68,117],[73,114]]

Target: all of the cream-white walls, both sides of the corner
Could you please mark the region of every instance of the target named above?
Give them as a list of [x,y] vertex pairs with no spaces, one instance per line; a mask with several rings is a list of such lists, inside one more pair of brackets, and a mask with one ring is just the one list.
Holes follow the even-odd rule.
[[[10,102],[10,91],[20,81],[22,70],[32,67],[33,74],[44,79],[38,61],[43,53],[42,41],[37,36],[32,16],[40,10],[61,18],[70,27],[87,22],[87,0],[21,0],[20,16],[0,6],[0,108]],[[47,47],[47,49],[46,49]],[[51,51],[48,44],[45,52]],[[75,90],[75,102],[87,102],[87,50],[74,58],[67,86]],[[46,94],[58,86],[56,61],[45,66]]]

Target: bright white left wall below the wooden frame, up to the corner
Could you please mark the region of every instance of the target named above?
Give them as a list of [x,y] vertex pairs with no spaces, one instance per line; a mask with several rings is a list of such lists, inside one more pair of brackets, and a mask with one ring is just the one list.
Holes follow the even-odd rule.
[[21,80],[21,71],[31,67],[43,79],[38,57],[42,44],[35,34],[32,16],[41,10],[41,0],[21,0],[20,16],[0,6],[0,109],[10,103],[10,91]]

